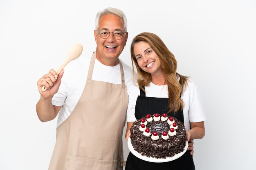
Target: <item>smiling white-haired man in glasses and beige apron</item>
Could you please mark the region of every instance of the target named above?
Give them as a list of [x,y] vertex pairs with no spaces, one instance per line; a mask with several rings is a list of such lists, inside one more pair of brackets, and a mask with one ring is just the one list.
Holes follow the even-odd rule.
[[94,37],[96,52],[71,61],[65,73],[50,70],[37,82],[38,118],[47,122],[59,113],[49,170],[123,169],[122,135],[132,84],[132,69],[118,58],[128,38],[124,13],[99,11]]

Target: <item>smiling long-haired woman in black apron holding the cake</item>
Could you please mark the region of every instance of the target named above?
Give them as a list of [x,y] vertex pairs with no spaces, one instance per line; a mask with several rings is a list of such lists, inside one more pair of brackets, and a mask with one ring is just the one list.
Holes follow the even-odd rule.
[[[126,139],[133,122],[154,113],[167,113],[183,122],[187,141],[202,139],[206,116],[198,85],[176,72],[177,61],[162,39],[153,33],[140,33],[132,40],[130,51],[138,85],[129,94]],[[129,153],[126,170],[194,170],[189,151],[192,148],[188,147],[182,157],[164,163],[144,161]]]

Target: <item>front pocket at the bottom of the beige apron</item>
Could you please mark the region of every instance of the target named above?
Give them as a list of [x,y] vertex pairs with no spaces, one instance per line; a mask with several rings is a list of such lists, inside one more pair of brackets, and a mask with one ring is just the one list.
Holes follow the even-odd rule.
[[105,161],[67,155],[65,170],[116,170],[120,159]]

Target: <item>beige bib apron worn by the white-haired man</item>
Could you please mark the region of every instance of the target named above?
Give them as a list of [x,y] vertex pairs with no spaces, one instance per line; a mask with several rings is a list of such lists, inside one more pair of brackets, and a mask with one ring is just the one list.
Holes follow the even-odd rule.
[[122,170],[122,135],[128,96],[122,84],[92,80],[93,53],[83,94],[70,116],[57,128],[49,170]]

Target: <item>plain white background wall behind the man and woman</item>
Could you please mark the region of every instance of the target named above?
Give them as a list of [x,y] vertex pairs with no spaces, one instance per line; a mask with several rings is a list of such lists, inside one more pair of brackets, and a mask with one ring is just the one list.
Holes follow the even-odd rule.
[[[166,43],[178,72],[200,86],[206,135],[195,140],[197,170],[255,170],[256,2],[254,0],[0,0],[0,170],[46,170],[56,119],[36,115],[36,82],[57,69],[74,43],[96,49],[94,18],[124,11],[130,43],[152,32]],[[128,148],[124,141],[125,157]]]

